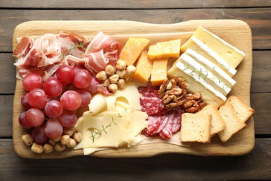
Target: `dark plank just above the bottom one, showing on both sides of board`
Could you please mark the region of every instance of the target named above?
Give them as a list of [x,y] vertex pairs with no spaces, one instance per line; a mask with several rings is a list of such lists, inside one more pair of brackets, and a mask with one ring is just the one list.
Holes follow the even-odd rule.
[[[252,93],[251,107],[255,109],[253,116],[255,134],[271,134],[271,93]],[[13,95],[0,95],[0,137],[12,136],[13,132]]]

